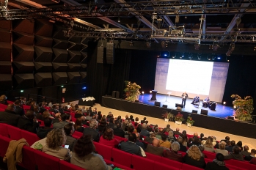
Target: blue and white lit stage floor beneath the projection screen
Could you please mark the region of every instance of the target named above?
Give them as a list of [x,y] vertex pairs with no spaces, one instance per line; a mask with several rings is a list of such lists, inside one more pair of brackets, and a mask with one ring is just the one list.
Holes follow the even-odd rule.
[[[155,100],[150,100],[151,97],[152,95],[150,94],[141,95],[139,97],[139,103],[144,103],[147,105],[154,106]],[[163,105],[167,105],[167,108],[176,109],[175,103],[181,104],[181,97],[176,97],[176,96],[168,97],[168,95],[157,94],[156,99],[157,99],[156,101],[161,102],[161,105],[160,105],[161,107]],[[202,107],[202,100],[200,100],[199,107],[191,105],[192,100],[193,99],[189,99],[189,98],[186,100],[186,107],[183,108],[183,111],[192,112],[192,110],[197,110],[198,114],[200,114],[201,109],[205,109],[205,110],[208,110],[208,116],[211,116],[211,117],[219,117],[219,118],[225,119],[227,116],[233,116],[233,113],[234,113],[233,107],[222,106],[222,103],[217,103],[215,111],[211,111],[210,108]]]

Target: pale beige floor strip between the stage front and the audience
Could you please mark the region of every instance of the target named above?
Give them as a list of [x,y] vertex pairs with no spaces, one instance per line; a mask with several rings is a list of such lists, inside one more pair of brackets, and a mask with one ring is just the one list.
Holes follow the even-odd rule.
[[[190,104],[189,101],[187,100],[188,105]],[[70,103],[78,103],[78,100],[70,102]],[[88,107],[88,106],[86,106]],[[133,115],[134,118],[138,117],[139,120],[143,119],[143,115],[139,115],[139,114],[134,114],[134,113],[128,113],[125,111],[119,111],[119,110],[115,110],[113,108],[106,108],[103,106],[100,106],[100,104],[96,103],[95,106],[93,108],[97,108],[98,111],[101,111],[101,113],[103,115],[107,115],[109,113],[109,111],[111,111],[112,114],[114,114],[114,117],[118,117],[121,116],[122,118],[125,118],[125,115]],[[188,108],[189,109],[189,108]],[[222,133],[216,130],[208,130],[205,128],[201,128],[201,127],[187,127],[185,124],[182,125],[176,125],[175,122],[164,122],[164,119],[158,119],[158,118],[153,118],[153,117],[147,117],[147,120],[149,121],[150,124],[153,125],[158,125],[158,127],[166,127],[168,124],[171,126],[172,130],[175,130],[176,127],[180,128],[180,131],[186,130],[186,132],[188,134],[193,134],[195,132],[197,133],[204,133],[205,136],[216,136],[217,141],[220,141],[222,139],[225,138],[225,136],[230,136],[230,140],[234,140],[235,142],[238,141],[242,141],[243,142],[243,146],[247,145],[249,147],[249,150],[251,149],[256,149],[256,139],[255,138],[246,138],[243,136],[235,136],[233,134],[228,134],[228,133]]]

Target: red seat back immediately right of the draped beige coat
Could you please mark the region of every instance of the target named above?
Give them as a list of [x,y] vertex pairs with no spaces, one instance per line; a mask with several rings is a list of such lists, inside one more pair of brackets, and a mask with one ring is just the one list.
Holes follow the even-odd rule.
[[34,170],[36,168],[34,149],[28,146],[24,146],[22,149],[22,163],[19,163],[25,169]]

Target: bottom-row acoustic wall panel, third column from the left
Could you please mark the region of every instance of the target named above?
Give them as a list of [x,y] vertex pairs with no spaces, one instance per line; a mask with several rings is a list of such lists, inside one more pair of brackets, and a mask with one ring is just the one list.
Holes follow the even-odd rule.
[[36,73],[34,74],[34,80],[38,87],[52,85],[51,73]]

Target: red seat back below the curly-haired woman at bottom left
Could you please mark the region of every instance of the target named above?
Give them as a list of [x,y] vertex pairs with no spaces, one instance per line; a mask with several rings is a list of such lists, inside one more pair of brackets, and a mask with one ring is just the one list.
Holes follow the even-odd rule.
[[34,150],[35,163],[38,170],[56,170],[59,169],[59,158],[45,154],[39,150]]

